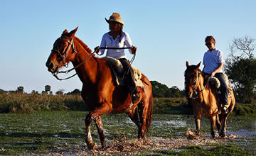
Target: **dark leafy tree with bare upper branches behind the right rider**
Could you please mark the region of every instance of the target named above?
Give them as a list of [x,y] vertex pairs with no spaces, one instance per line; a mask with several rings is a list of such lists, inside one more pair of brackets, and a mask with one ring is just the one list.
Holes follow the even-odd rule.
[[[225,60],[225,73],[233,84],[237,101],[251,103],[255,98],[256,59],[253,55],[255,39],[245,35],[230,44],[230,55]],[[235,55],[235,52],[240,52]]]

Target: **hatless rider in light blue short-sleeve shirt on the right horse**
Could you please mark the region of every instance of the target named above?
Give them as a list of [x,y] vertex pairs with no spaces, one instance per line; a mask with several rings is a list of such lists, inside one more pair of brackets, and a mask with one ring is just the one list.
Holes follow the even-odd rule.
[[228,84],[223,77],[223,64],[225,62],[223,52],[215,49],[215,39],[213,36],[206,37],[206,46],[209,49],[203,56],[203,72],[210,77],[217,77],[220,81],[221,101],[223,106],[222,113],[228,113]]

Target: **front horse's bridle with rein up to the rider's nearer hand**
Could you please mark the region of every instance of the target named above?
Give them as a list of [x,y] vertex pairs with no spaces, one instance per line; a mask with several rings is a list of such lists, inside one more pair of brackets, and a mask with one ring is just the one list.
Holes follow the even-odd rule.
[[[67,57],[68,51],[70,50],[70,48],[72,48],[73,52],[75,52],[75,53],[78,53],[78,52],[75,51],[74,37],[71,38],[70,40],[68,40],[68,39],[66,39],[66,38],[61,38],[61,37],[60,37],[60,38],[58,38],[57,40],[61,40],[61,39],[68,42],[68,48],[65,49],[65,52],[63,52],[63,55],[60,53],[59,50],[53,49],[53,50],[51,50],[51,51],[52,51],[52,52],[54,52],[54,51],[55,51],[55,52],[58,52],[58,54],[59,54],[60,57],[61,57],[61,61],[63,62],[63,65],[64,65],[66,68],[68,68],[68,62],[65,62],[65,60],[64,60],[64,58]],[[95,50],[94,52],[92,52],[88,57],[86,57],[85,60],[83,60],[82,62],[80,62],[78,65],[76,65],[76,66],[73,67],[72,69],[68,69],[68,70],[60,71],[60,72],[54,72],[54,73],[52,73],[53,76],[54,76],[56,79],[60,80],[60,81],[61,81],[61,80],[65,80],[65,79],[70,79],[71,77],[74,77],[77,73],[73,74],[73,75],[70,76],[70,77],[64,78],[64,79],[60,79],[60,78],[57,76],[57,74],[59,74],[59,73],[68,74],[68,73],[71,72],[73,69],[76,69],[76,68],[80,67],[82,64],[84,64],[90,57],[92,57],[92,55],[93,55],[95,52],[96,52],[96,50]]]

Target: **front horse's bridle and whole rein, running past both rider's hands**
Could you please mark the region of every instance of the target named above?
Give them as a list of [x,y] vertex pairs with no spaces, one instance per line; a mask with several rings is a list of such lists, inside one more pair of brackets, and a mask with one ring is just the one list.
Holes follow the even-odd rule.
[[[60,37],[59,39],[62,39],[62,38]],[[54,50],[54,49],[53,49],[53,50],[51,50],[51,51],[52,51],[52,52],[53,52],[53,51],[58,52],[58,54],[60,55],[60,57],[61,57],[61,59],[62,59],[61,61],[63,62],[63,65],[64,65],[66,68],[68,68],[68,63],[67,63],[67,62],[64,62],[64,58],[67,57],[67,52],[70,50],[70,48],[72,48],[73,52],[75,52],[75,53],[78,53],[78,52],[75,51],[74,38],[71,38],[71,40],[67,40],[67,39],[63,38],[63,40],[66,40],[66,41],[68,42],[68,48],[65,49],[65,52],[63,53],[63,55],[61,55],[61,53],[60,53],[59,50]],[[100,48],[100,49],[131,49],[131,48]],[[80,67],[82,64],[84,64],[87,60],[89,60],[90,57],[92,57],[92,55],[95,54],[95,52],[97,52],[97,50],[95,50],[94,52],[92,52],[88,57],[85,58],[85,60],[83,60],[82,62],[80,62],[80,63],[79,63],[78,65],[76,65],[75,67],[73,67],[73,68],[71,68],[71,69],[68,69],[68,70],[65,70],[65,71],[55,72],[55,73],[53,73],[53,76],[54,76],[56,79],[60,80],[60,81],[65,80],[65,79],[70,79],[71,77],[75,77],[75,75],[78,74],[78,73],[75,73],[75,74],[73,74],[72,76],[66,77],[66,78],[64,78],[64,79],[60,79],[60,78],[57,76],[57,74],[59,74],[59,73],[68,74],[69,72],[73,71],[74,69],[77,69],[77,68]],[[136,53],[135,53],[135,54],[136,54]],[[134,61],[135,54],[134,54],[134,56],[132,57],[132,60],[131,60],[131,62],[130,62],[129,67],[131,67],[132,62]]]

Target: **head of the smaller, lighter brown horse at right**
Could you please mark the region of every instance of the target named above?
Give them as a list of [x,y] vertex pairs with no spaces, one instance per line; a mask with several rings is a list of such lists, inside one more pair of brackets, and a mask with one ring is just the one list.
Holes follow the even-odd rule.
[[199,78],[201,76],[201,69],[199,69],[201,62],[198,65],[189,65],[186,62],[185,76],[185,90],[188,99],[193,99],[194,96],[198,95],[196,89],[199,86]]

